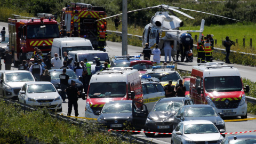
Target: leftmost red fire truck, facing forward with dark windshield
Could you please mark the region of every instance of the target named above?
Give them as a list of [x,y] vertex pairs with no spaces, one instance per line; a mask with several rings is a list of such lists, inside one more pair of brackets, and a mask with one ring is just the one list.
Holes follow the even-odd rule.
[[24,59],[31,58],[34,47],[38,47],[43,54],[51,51],[53,38],[59,37],[58,23],[54,20],[54,15],[37,15],[37,18],[8,19],[10,51],[13,54],[14,66],[18,66]]

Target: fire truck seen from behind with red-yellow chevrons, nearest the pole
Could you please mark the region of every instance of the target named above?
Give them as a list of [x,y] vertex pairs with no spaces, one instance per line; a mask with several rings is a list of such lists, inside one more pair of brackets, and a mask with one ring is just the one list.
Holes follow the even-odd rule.
[[61,11],[61,29],[62,26],[66,26],[67,33],[71,33],[74,27],[79,32],[79,37],[86,36],[94,47],[98,47],[98,31],[100,25],[107,27],[106,20],[99,20],[107,16],[106,10],[100,6],[92,6],[91,4],[84,3],[71,3],[72,6],[64,7]]

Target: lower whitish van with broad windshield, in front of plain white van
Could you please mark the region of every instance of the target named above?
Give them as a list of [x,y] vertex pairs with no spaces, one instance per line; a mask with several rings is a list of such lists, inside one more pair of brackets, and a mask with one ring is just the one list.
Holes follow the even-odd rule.
[[109,61],[109,56],[107,52],[103,52],[103,51],[95,51],[95,50],[91,50],[91,51],[71,51],[68,53],[68,57],[73,58],[71,65],[74,64],[74,62],[79,62],[79,61],[84,61],[84,59],[86,58],[87,61],[91,64],[92,66],[92,73],[94,73],[95,71],[95,66],[96,66],[96,62],[94,60],[94,57],[98,57],[100,58],[100,62],[102,67],[104,67],[103,63],[105,62],[105,60]]

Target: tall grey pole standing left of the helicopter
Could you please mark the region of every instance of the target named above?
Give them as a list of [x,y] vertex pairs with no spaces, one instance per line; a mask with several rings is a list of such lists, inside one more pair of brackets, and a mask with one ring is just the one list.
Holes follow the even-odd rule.
[[123,15],[122,15],[122,55],[127,55],[127,0],[123,0]]

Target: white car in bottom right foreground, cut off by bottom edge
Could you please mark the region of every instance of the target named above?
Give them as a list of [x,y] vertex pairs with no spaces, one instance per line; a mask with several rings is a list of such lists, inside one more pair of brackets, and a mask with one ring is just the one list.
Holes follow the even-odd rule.
[[171,143],[220,143],[223,139],[217,127],[210,121],[180,122],[172,132]]

